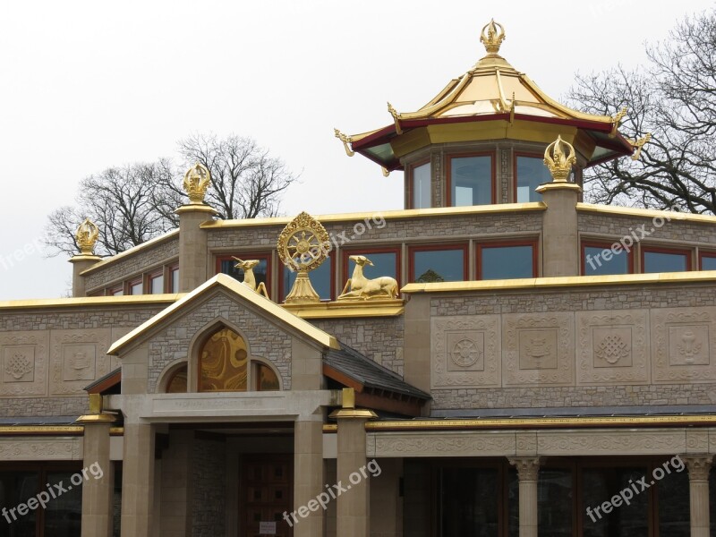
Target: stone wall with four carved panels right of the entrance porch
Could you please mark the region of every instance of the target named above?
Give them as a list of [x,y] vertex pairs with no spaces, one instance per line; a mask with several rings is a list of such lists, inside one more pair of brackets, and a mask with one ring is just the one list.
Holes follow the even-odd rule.
[[716,286],[430,298],[433,410],[716,404]]

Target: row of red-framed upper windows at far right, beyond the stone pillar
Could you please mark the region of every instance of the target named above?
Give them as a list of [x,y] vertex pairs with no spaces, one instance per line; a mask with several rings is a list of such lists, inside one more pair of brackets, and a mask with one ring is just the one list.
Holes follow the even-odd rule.
[[[635,251],[611,248],[611,243],[582,243],[582,274],[598,276],[634,272],[685,272],[693,270],[694,251],[642,245],[640,267],[635,267]],[[716,270],[716,251],[700,251],[698,270]]]

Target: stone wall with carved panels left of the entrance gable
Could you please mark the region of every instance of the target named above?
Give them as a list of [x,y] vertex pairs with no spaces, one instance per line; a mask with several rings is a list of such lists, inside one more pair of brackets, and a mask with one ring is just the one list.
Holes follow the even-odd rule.
[[0,416],[78,416],[84,388],[119,367],[107,349],[165,304],[0,312]]

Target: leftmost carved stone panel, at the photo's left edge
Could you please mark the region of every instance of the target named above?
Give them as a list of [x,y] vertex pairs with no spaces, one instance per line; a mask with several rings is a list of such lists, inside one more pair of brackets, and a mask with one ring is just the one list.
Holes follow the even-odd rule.
[[47,332],[0,333],[0,396],[47,396]]

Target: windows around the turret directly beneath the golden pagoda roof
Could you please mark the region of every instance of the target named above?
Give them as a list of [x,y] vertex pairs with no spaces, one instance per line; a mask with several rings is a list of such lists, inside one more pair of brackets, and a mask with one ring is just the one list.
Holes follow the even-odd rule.
[[[513,200],[517,203],[541,201],[535,189],[550,183],[550,171],[543,158],[529,153],[516,153]],[[490,205],[497,202],[495,153],[471,153],[447,157],[446,207]],[[430,161],[409,168],[408,199],[411,209],[427,209],[430,200]]]

